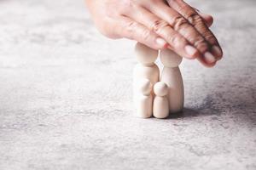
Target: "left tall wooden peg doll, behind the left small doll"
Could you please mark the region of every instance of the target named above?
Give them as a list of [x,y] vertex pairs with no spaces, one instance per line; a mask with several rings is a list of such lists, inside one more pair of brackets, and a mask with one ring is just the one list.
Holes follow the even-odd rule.
[[[136,55],[138,64],[135,66],[133,71],[133,101],[136,107],[136,110],[138,110],[139,105],[138,104],[138,96],[141,96],[143,94],[141,85],[139,84],[145,79],[148,79],[151,86],[153,87],[156,82],[159,82],[160,79],[160,71],[157,65],[154,64],[154,61],[158,57],[158,50],[154,50],[152,48],[148,48],[147,46],[143,45],[142,43],[137,42],[136,48]],[[151,88],[150,94],[154,96],[153,88]],[[153,104],[149,104],[148,108],[153,108]],[[136,111],[136,112],[137,112]],[[143,114],[143,111],[137,112],[137,116],[140,117],[149,117],[148,114],[146,114],[147,111]],[[151,115],[152,116],[152,113]]]

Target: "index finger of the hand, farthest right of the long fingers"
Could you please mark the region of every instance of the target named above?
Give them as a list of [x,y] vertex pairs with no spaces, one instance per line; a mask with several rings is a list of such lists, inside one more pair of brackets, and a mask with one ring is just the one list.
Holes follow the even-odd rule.
[[208,44],[211,46],[211,51],[208,52],[212,53],[217,59],[221,58],[223,52],[218,44],[218,40],[214,37],[212,31],[209,30],[204,20],[202,20],[195,9],[190,7],[189,4],[185,3],[183,0],[167,0],[167,2],[172,8],[177,10],[179,14],[182,14],[191,25],[195,26],[195,29],[207,40]]

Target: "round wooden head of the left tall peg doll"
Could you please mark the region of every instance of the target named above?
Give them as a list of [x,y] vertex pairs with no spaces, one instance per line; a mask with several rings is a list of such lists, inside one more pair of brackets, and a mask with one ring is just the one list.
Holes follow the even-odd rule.
[[142,65],[154,65],[154,61],[158,57],[158,50],[148,48],[148,46],[140,42],[137,42],[135,51],[137,54],[137,60]]

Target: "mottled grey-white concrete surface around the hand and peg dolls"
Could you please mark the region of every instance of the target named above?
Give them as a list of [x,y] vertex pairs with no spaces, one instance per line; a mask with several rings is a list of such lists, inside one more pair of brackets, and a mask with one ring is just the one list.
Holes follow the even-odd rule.
[[82,0],[0,1],[0,169],[256,169],[256,2],[190,1],[215,17],[213,69],[183,62],[183,114],[132,117],[134,42]]

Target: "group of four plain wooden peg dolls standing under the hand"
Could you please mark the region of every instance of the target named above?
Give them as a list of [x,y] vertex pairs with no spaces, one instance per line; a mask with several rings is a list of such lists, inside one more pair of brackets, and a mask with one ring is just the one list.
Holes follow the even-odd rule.
[[138,64],[133,72],[133,100],[138,117],[166,118],[183,110],[183,78],[178,65],[182,57],[170,49],[160,51],[160,69],[155,65],[159,51],[137,42]]

